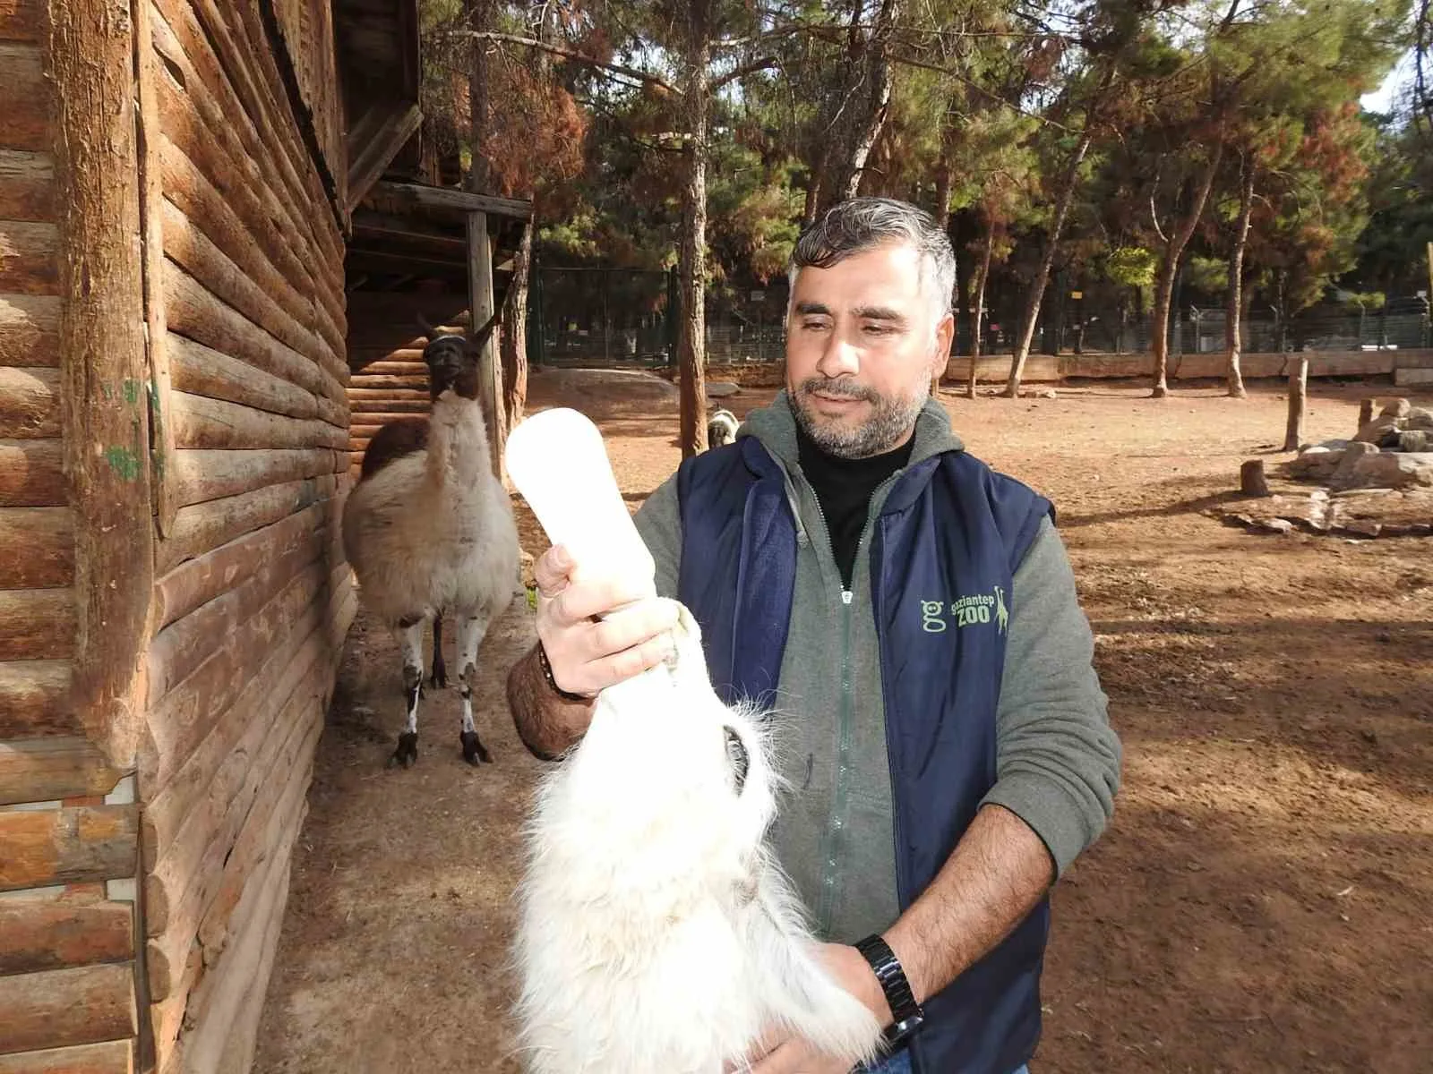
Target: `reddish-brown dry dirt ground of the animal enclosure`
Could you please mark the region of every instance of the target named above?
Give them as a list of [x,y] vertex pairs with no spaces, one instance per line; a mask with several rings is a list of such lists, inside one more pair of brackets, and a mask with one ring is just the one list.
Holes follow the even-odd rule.
[[[537,375],[532,405],[599,420],[635,507],[678,461],[675,405],[669,387],[618,382]],[[1281,458],[1278,388],[1145,394],[944,397],[976,454],[1055,500],[1126,749],[1116,819],[1056,889],[1033,1070],[1433,1071],[1433,540],[1219,524],[1201,511],[1232,498],[1240,463]],[[1314,388],[1311,438],[1348,435],[1366,394],[1394,392]],[[519,1070],[503,961],[542,766],[502,673],[529,639],[516,601],[484,647],[494,765],[461,763],[446,692],[424,702],[417,768],[388,772],[398,656],[355,626],[262,1074]]]

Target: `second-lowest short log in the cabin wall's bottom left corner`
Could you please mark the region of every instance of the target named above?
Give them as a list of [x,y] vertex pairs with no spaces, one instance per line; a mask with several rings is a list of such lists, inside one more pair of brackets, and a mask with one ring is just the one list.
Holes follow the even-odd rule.
[[0,977],[0,1053],[132,1037],[135,971],[128,962]]

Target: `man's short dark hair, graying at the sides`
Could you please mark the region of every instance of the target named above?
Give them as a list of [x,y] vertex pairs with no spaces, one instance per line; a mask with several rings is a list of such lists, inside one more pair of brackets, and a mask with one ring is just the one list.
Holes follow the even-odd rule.
[[936,289],[940,316],[950,312],[956,289],[956,252],[950,236],[936,218],[910,202],[894,198],[851,198],[833,205],[797,239],[787,276],[795,291],[797,274],[804,268],[830,268],[876,246],[898,242],[920,253],[920,284]]

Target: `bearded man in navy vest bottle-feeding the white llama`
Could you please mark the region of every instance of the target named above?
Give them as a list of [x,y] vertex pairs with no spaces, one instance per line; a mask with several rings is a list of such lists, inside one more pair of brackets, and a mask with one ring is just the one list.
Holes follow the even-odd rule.
[[[774,703],[791,793],[772,846],[827,965],[891,1027],[878,1070],[1019,1074],[1046,894],[1103,829],[1121,750],[1053,510],[967,455],[929,400],[954,274],[920,209],[831,209],[792,255],[785,391],[636,521],[714,686]],[[562,548],[537,561],[540,642],[509,676],[547,758],[592,695],[666,654],[675,621],[649,599],[596,623],[641,594],[572,571]],[[844,1074],[780,1032],[759,1051],[757,1074]]]

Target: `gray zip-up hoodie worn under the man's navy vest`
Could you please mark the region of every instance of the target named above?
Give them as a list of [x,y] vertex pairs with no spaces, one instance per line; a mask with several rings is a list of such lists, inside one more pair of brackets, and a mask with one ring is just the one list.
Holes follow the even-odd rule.
[[[850,590],[831,551],[815,493],[797,461],[785,392],[738,431],[757,437],[787,474],[797,517],[797,581],[774,715],[777,766],[787,780],[772,846],[824,939],[853,942],[900,914],[891,775],[876,619],[870,523],[891,485],[871,497]],[[963,451],[944,408],[927,401],[907,467]],[[658,593],[676,596],[681,516],[675,475],[636,514],[656,560]],[[1010,809],[1063,871],[1103,831],[1119,786],[1119,739],[1092,666],[1065,546],[1046,520],[1015,573],[997,712],[997,779],[984,802]]]

